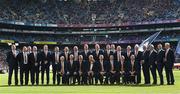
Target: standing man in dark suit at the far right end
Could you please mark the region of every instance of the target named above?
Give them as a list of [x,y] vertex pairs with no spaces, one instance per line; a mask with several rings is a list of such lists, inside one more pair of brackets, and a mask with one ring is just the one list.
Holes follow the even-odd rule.
[[166,79],[168,85],[174,85],[174,74],[173,74],[173,66],[175,62],[175,56],[173,50],[170,48],[170,43],[165,43],[165,71],[166,71]]

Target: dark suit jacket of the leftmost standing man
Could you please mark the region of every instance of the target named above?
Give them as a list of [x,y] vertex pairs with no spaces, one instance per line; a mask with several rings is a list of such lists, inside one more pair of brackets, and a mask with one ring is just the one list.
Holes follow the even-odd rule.
[[17,56],[14,57],[12,51],[9,51],[7,53],[6,61],[7,61],[9,67],[18,67]]

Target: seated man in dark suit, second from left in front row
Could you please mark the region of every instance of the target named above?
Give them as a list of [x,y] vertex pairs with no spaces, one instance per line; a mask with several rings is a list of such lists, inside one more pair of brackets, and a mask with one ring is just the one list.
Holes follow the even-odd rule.
[[[75,84],[78,79],[78,65],[74,61],[74,55],[69,56],[69,62],[67,63],[67,80],[68,84]],[[72,83],[73,81],[73,83]]]

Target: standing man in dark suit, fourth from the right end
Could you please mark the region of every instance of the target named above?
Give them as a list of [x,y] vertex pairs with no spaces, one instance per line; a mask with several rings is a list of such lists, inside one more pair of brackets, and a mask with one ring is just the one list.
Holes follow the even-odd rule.
[[144,74],[144,84],[150,84],[150,63],[149,63],[149,49],[147,46],[143,46],[143,53],[142,53],[142,68]]

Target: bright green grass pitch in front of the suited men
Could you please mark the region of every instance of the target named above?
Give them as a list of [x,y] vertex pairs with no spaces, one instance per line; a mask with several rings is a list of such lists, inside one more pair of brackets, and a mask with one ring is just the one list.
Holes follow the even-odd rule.
[[[163,86],[142,84],[127,86],[7,86],[7,74],[0,74],[0,94],[180,94],[180,70],[175,70],[174,76],[175,85],[166,85],[166,79],[164,79],[165,85]],[[52,80],[50,82],[52,83]]]

